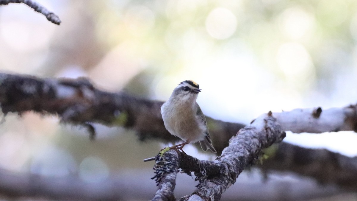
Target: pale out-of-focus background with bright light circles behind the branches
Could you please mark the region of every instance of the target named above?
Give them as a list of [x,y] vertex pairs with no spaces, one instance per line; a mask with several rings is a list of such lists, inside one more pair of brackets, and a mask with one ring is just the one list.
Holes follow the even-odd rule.
[[[357,102],[355,0],[37,2],[56,13],[61,25],[24,4],[0,6],[1,72],[84,76],[102,90],[126,90],[156,100],[166,100],[178,83],[192,79],[202,88],[197,102],[206,116],[244,124],[270,110],[327,109]],[[1,168],[50,177],[77,175],[88,183],[141,171],[151,194],[125,199],[152,198],[154,163],[142,159],[168,144],[139,142],[134,131],[100,124],[95,124],[98,136],[91,142],[86,129],[31,112],[2,119]],[[284,140],[357,156],[353,132],[287,133]],[[185,152],[199,159],[215,158],[193,146],[185,146]],[[178,183],[177,197],[194,189],[191,177],[182,179],[192,185],[184,191],[186,186]],[[330,200],[357,199],[357,194],[340,195],[296,175],[278,173],[264,183],[252,170],[237,181],[247,182],[277,195],[281,189],[297,189],[286,183],[321,191],[296,200],[328,193],[333,194]],[[239,189],[244,193],[238,187],[237,193]],[[234,197],[234,190],[229,193]]]

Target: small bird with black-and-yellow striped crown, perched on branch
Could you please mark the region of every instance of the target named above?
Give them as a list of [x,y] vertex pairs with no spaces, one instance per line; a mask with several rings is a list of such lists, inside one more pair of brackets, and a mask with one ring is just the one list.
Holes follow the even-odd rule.
[[200,142],[203,151],[211,149],[212,152],[217,153],[212,146],[206,118],[196,102],[199,92],[201,89],[196,82],[185,80],[174,89],[169,100],[161,106],[165,128],[184,141],[170,148],[182,150],[188,143]]

